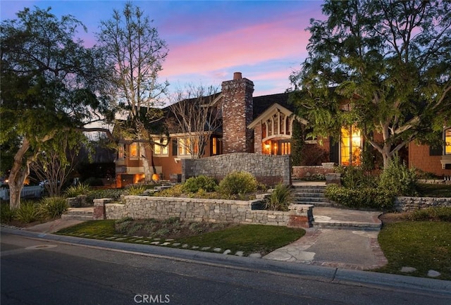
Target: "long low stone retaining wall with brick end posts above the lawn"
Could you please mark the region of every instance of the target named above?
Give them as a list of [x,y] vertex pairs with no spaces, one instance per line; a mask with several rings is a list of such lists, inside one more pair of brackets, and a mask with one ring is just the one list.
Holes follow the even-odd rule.
[[211,223],[247,223],[309,228],[313,218],[310,204],[293,204],[290,211],[252,210],[259,201],[126,196],[125,204],[111,199],[94,200],[94,219],[166,219],[178,217]]

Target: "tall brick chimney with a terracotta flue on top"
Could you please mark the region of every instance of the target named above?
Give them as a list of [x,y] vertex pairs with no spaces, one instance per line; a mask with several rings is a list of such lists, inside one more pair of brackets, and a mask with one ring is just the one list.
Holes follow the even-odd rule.
[[233,73],[233,80],[222,83],[223,94],[223,153],[252,152],[252,122],[254,82]]

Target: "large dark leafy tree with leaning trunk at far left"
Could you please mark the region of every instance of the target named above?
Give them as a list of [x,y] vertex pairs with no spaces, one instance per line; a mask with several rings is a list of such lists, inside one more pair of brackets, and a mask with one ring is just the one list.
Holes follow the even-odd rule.
[[57,132],[81,132],[113,118],[104,54],[75,39],[84,25],[71,15],[56,18],[51,8],[25,8],[17,16],[0,27],[0,145],[14,155],[12,208],[45,142]]

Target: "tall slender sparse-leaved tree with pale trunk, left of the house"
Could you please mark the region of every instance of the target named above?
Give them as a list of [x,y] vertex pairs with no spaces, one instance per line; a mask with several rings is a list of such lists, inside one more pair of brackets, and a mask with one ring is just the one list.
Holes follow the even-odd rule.
[[[127,121],[116,124],[116,132],[140,143],[140,155],[152,159],[152,123],[163,117],[161,97],[168,82],[158,82],[162,63],[168,54],[166,42],[159,37],[152,20],[137,6],[127,2],[122,11],[113,11],[109,20],[101,21],[97,35],[112,68],[114,91],[111,97]],[[160,139],[160,137],[159,137]],[[150,148],[150,149],[149,149]],[[143,160],[145,178],[152,177],[149,163]]]

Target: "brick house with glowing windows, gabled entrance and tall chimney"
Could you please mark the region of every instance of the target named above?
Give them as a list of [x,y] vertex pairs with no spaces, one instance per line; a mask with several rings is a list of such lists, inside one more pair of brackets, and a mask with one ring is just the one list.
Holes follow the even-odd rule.
[[[294,106],[288,103],[288,93],[253,97],[254,83],[241,73],[234,73],[233,80],[222,82],[221,92],[214,101],[220,106],[221,128],[209,135],[202,157],[233,152],[254,154],[290,154],[293,122],[305,120],[295,116]],[[180,101],[182,102],[182,101]],[[166,118],[171,117],[171,109],[164,109]],[[181,173],[183,158],[191,158],[190,149],[198,149],[190,143],[186,133],[176,128],[167,130],[168,137],[161,137],[161,144],[147,147],[152,151],[152,160],[140,154],[137,143],[123,143],[116,160],[116,181],[118,187],[135,183],[144,178],[142,162],[149,162],[154,173],[160,178],[177,180]],[[328,161],[348,166],[359,163],[363,146],[360,131],[342,127],[340,142],[324,139],[322,149],[328,154]],[[426,146],[410,144],[408,147],[409,166],[440,176],[451,175],[451,129],[444,131],[447,145],[441,151],[430,150]],[[439,154],[440,153],[440,154]]]

